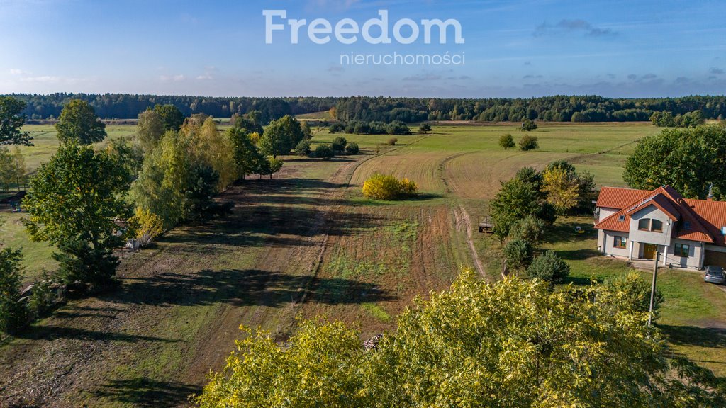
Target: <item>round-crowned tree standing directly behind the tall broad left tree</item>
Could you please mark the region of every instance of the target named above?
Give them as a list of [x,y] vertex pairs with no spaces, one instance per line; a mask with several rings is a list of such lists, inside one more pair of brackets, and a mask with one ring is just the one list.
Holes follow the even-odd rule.
[[55,128],[61,143],[93,144],[106,137],[106,125],[99,121],[93,107],[81,99],[65,105]]

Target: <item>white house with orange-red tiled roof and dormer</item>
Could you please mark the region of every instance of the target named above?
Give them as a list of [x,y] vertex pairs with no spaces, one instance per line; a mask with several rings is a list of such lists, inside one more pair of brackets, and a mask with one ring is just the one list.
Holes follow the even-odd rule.
[[690,200],[669,186],[653,191],[603,187],[595,205],[597,248],[664,266],[726,267],[726,202]]

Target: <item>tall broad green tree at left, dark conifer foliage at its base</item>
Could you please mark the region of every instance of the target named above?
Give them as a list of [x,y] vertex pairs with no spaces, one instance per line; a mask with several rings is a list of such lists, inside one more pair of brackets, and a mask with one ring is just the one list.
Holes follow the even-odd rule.
[[23,207],[30,237],[57,245],[60,277],[68,284],[103,285],[118,264],[113,256],[123,240],[115,219],[127,219],[123,194],[129,173],[105,151],[62,144],[30,180]]

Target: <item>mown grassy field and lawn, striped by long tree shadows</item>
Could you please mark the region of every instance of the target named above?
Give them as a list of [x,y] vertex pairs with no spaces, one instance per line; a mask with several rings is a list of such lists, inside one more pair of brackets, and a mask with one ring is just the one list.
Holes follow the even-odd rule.
[[[462,266],[499,279],[499,242],[476,232],[499,181],[522,166],[564,158],[595,174],[598,185],[623,185],[635,142],[657,131],[645,123],[544,124],[529,132],[541,148],[521,152],[497,145],[503,133],[523,135],[513,125],[434,126],[431,134],[396,136],[393,147],[386,145],[391,136],[343,135],[362,154],[330,162],[285,158],[273,180],[245,181],[219,197],[234,202],[231,216],[174,229],[124,259],[118,290],[70,301],[27,335],[7,340],[0,347],[0,406],[20,398],[60,406],[184,405],[208,370],[223,367],[242,335],[239,325],[263,327],[278,340],[295,330],[296,319],[320,315],[356,325],[364,338],[391,330],[416,295],[443,290]],[[322,131],[313,144],[334,136]],[[396,203],[365,199],[360,187],[375,171],[407,176],[421,194]],[[576,234],[578,225],[587,234]],[[25,246],[23,234],[15,227],[8,237]],[[629,270],[624,261],[597,256],[595,246],[592,219],[581,217],[560,219],[539,249],[556,250],[571,264],[574,285]],[[45,258],[35,253],[26,265],[36,270]],[[691,272],[663,272],[659,287],[666,302],[658,325],[674,353],[726,376],[726,294]]]

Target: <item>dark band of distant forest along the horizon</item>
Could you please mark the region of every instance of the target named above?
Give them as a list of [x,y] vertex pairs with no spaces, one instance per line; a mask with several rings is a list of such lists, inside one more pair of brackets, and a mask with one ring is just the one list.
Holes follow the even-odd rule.
[[726,118],[725,96],[610,99],[597,96],[554,96],[529,99],[441,99],[392,97],[189,97],[131,94],[11,94],[28,102],[30,119],[60,115],[70,99],[83,99],[105,119],[136,118],[155,105],[175,105],[184,115],[205,113],[216,118],[253,110],[265,123],[284,115],[331,110],[340,121],[486,121],[554,122],[648,121],[653,113],[685,115],[700,111],[703,118]]

